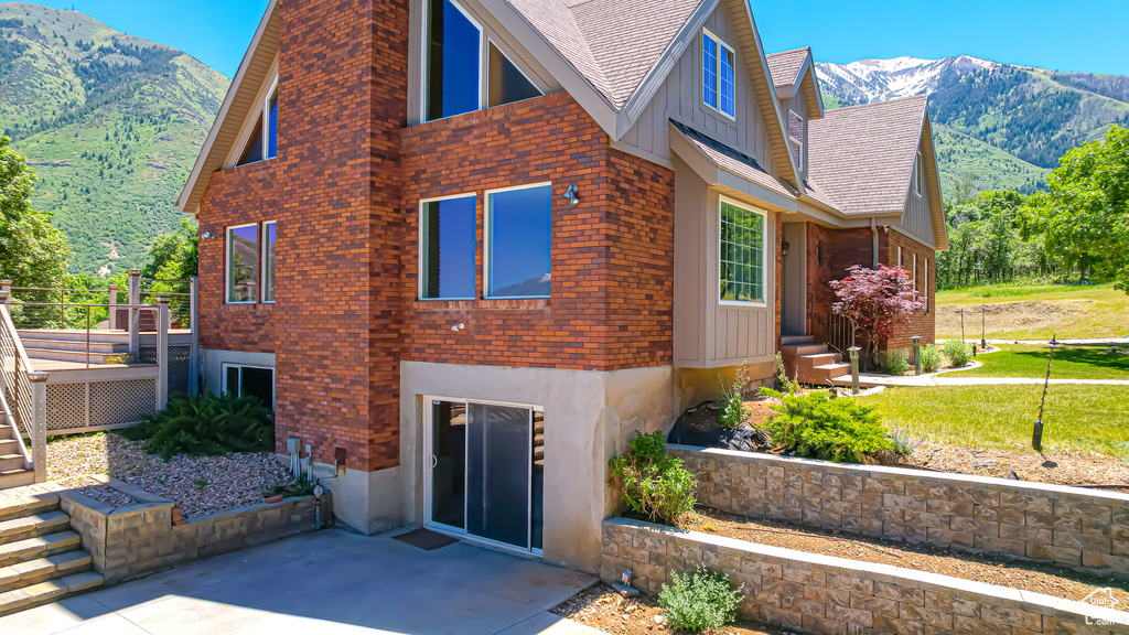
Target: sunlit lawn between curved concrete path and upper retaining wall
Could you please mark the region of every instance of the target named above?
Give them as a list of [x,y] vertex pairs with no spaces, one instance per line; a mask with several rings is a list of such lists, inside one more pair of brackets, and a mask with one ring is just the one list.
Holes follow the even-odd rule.
[[[937,443],[1031,450],[1041,385],[894,388],[861,397],[886,424],[910,426]],[[1129,386],[1052,385],[1043,411],[1043,449],[1124,456]]]

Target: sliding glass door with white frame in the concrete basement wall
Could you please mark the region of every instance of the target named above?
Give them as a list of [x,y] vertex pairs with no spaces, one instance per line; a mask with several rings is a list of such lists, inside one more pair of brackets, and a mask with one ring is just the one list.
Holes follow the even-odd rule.
[[427,523],[541,549],[541,412],[525,406],[427,400]]

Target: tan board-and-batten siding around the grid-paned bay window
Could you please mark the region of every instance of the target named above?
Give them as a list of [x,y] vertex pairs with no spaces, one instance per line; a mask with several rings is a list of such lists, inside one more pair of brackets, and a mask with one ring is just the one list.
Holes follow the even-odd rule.
[[719,301],[720,198],[675,158],[674,365],[718,368],[776,353],[776,216],[764,215],[764,306]]

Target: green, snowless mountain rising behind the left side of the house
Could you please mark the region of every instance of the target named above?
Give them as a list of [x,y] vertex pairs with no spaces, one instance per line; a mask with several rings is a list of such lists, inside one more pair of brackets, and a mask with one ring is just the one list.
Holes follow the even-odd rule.
[[0,133],[40,176],[76,273],[140,267],[227,92],[194,58],[89,16],[0,3]]

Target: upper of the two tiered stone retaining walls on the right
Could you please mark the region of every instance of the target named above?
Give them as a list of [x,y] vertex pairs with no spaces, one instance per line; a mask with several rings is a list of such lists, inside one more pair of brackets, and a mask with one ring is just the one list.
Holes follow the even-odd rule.
[[1129,575],[1129,495],[904,468],[671,445],[698,502],[799,522]]

